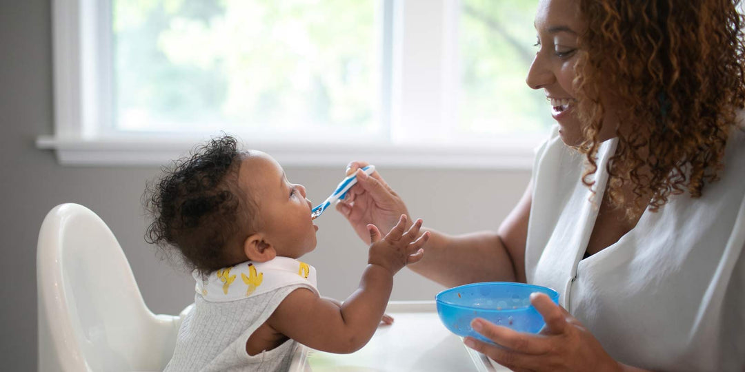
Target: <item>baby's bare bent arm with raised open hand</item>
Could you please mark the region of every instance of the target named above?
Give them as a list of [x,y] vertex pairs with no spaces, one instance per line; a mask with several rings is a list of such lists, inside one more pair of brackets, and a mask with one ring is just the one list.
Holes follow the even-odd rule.
[[429,238],[425,232],[418,239],[422,220],[409,231],[404,231],[406,217],[381,239],[375,225],[370,231],[369,257],[360,285],[341,306],[334,301],[320,298],[309,289],[296,289],[267,320],[279,333],[317,350],[330,353],[352,353],[359,350],[370,338],[381,321],[390,291],[393,275],[407,263],[422,259],[422,246]]

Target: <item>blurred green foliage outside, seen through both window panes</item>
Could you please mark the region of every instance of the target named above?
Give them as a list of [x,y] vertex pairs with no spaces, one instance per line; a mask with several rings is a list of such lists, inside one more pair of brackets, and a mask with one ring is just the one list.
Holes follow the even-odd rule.
[[[113,0],[115,126],[378,126],[379,0]],[[537,0],[461,0],[457,129],[548,126],[524,77]],[[550,117],[548,117],[550,119]]]

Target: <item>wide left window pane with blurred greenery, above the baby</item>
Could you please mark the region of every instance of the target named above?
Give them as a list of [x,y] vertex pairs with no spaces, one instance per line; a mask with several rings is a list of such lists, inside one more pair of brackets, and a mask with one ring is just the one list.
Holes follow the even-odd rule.
[[379,129],[376,0],[112,1],[115,129]]

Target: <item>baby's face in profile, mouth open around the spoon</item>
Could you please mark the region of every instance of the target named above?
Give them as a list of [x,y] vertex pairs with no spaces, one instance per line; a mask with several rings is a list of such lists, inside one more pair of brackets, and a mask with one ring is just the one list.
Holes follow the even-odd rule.
[[241,161],[238,184],[256,202],[256,226],[277,255],[297,258],[316,248],[318,226],[305,187],[291,184],[274,158],[251,150]]

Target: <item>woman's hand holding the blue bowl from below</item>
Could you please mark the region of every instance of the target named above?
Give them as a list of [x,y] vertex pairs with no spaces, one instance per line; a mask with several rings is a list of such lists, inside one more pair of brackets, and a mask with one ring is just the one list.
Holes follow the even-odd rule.
[[603,350],[576,318],[542,293],[530,303],[543,315],[546,326],[538,335],[520,333],[476,318],[471,327],[495,346],[466,337],[466,346],[486,354],[513,371],[621,371],[623,366]]

